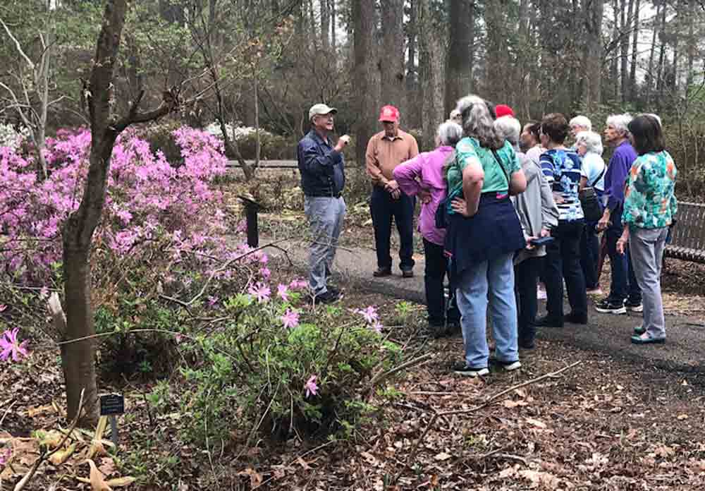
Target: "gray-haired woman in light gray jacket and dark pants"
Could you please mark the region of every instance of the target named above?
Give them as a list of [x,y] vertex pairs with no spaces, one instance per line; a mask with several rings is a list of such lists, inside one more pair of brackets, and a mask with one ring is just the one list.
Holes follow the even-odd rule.
[[[495,131],[502,135],[518,150],[521,125],[519,121],[503,116],[494,122]],[[551,234],[551,229],[558,225],[558,207],[553,201],[551,186],[539,164],[517,151],[517,157],[522,166],[522,171],[527,179],[527,188],[520,195],[512,197],[517,214],[519,215],[525,238],[546,237]],[[517,293],[518,313],[518,343],[520,348],[531,349],[534,347],[536,337],[536,314],[538,310],[537,284],[541,269],[541,257],[546,255],[546,247],[527,246],[514,257],[515,291]]]

